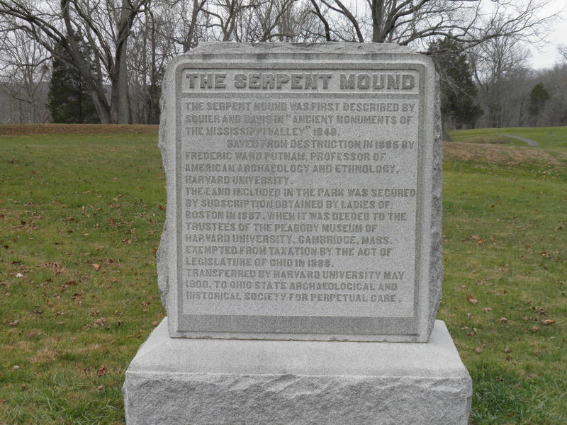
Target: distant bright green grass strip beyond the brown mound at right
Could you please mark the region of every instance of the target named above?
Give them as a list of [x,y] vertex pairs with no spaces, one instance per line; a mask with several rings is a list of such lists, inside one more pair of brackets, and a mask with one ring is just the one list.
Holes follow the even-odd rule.
[[[567,152],[567,127],[480,128],[449,131],[454,142],[478,142],[498,135],[512,135],[534,140],[541,149]],[[525,146],[524,142],[504,137],[510,145]]]

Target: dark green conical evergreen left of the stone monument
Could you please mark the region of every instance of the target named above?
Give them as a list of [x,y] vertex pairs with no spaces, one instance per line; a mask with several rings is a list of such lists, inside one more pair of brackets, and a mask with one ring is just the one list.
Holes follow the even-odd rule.
[[[64,46],[55,47],[47,104],[53,123],[99,123],[89,87],[67,58]],[[84,55],[89,55],[84,47]]]

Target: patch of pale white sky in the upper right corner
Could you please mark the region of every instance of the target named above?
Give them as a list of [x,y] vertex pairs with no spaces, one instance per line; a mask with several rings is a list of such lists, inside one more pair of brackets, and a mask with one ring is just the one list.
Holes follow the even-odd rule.
[[[551,0],[547,11],[549,13],[556,13],[565,9],[567,3],[565,0]],[[557,52],[558,45],[567,45],[567,9],[561,13],[561,19],[558,19],[552,28],[549,37],[546,38],[548,42],[541,47],[539,51],[531,47],[532,52],[532,67],[534,69],[551,68],[557,62],[561,62],[560,56]]]

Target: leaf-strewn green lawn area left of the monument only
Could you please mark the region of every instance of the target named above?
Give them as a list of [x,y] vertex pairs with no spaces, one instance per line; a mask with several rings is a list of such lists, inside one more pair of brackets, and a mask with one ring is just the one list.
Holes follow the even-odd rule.
[[0,424],[123,423],[125,368],[164,317],[156,139],[0,137]]

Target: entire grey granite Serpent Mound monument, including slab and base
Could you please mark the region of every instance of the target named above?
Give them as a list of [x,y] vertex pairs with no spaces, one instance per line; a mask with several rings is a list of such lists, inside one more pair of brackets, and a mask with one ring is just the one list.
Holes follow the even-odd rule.
[[[167,318],[128,425],[466,425],[437,75],[397,45],[211,43],[164,78]],[[415,343],[415,344],[403,344]]]

